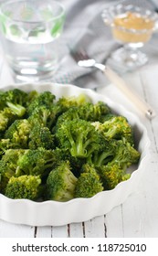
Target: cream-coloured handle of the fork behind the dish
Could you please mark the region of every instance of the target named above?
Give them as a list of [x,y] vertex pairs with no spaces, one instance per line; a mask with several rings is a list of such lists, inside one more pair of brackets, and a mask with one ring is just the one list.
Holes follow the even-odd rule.
[[112,82],[113,85],[117,86],[117,88],[119,88],[121,92],[123,92],[127,98],[130,99],[132,103],[138,107],[138,109],[144,112],[147,118],[153,119],[153,117],[156,115],[153,108],[145,101],[142,101],[138,95],[129,89],[127,83],[115,71],[105,66],[104,69],[102,69],[102,72]]

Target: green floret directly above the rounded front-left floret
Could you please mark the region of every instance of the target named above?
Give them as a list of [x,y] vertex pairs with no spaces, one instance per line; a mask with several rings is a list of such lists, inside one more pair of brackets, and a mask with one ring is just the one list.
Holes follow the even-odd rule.
[[25,175],[47,176],[48,172],[57,165],[58,159],[51,150],[43,148],[25,150],[17,161],[17,166]]

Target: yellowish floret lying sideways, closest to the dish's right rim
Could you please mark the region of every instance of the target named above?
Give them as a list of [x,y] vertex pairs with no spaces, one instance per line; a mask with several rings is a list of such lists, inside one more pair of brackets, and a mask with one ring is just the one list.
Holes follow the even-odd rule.
[[124,137],[133,144],[132,126],[123,116],[113,116],[104,123],[95,122],[92,124],[106,138],[122,139]]

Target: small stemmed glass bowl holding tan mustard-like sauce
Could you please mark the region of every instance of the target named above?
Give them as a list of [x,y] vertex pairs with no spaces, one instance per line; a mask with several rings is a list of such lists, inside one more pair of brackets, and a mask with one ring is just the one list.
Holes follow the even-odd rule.
[[111,63],[113,61],[127,70],[144,65],[148,57],[140,48],[157,29],[158,15],[136,5],[118,4],[104,9],[101,16],[104,23],[111,27],[113,38],[122,44],[111,54]]

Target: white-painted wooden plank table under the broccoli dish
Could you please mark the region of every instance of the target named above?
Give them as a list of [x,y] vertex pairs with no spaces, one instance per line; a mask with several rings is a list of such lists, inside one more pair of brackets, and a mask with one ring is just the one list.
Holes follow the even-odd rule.
[[[0,63],[0,84],[12,83],[5,63]],[[150,103],[158,112],[158,62],[124,76],[136,93]],[[99,74],[98,83],[102,86],[104,78]],[[151,140],[151,156],[145,166],[139,190],[131,197],[113,208],[106,216],[96,217],[84,223],[68,224],[61,227],[30,227],[15,225],[0,220],[1,238],[136,238],[158,237],[158,115],[148,120],[138,112],[132,103],[115,91],[112,85],[101,89],[114,101],[125,105],[140,116]]]

